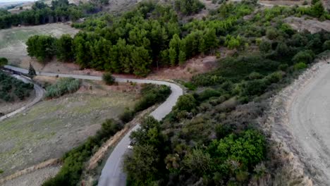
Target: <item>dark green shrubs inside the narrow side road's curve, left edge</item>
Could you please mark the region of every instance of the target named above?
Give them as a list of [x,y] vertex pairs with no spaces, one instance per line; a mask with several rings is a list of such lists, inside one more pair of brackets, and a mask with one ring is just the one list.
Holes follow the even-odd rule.
[[32,90],[33,84],[17,80],[15,77],[11,77],[0,71],[0,100],[24,100],[25,98],[30,97]]

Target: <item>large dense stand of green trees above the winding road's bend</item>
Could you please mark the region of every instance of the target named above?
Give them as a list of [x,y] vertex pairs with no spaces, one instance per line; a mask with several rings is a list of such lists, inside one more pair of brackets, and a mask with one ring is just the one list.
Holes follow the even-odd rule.
[[[225,18],[195,20],[181,26],[171,6],[146,2],[119,18],[106,14],[74,24],[94,32],[79,32],[73,39],[67,35],[60,39],[31,37],[27,50],[30,56],[41,59],[57,54],[82,68],[144,76],[154,67],[176,66],[197,54],[213,52],[220,44],[219,37],[250,11],[252,7],[246,4],[239,8],[230,5]],[[49,42],[44,43],[47,39]],[[241,42],[229,44],[238,47]]]

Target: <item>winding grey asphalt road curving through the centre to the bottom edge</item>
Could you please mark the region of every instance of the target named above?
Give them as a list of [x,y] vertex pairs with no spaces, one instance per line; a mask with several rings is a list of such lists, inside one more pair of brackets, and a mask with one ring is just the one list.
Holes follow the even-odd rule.
[[[20,73],[27,73],[28,70],[23,68],[17,68],[13,66],[4,66],[5,68],[14,70]],[[69,75],[59,73],[37,73],[38,75],[50,76],[50,77],[73,77],[83,80],[102,80],[102,77],[91,75]],[[164,82],[158,80],[138,80],[130,78],[118,78],[116,82],[136,82],[136,83],[152,83],[156,85],[167,85],[171,87],[171,95],[162,103],[157,109],[155,109],[150,116],[153,116],[157,120],[161,120],[167,114],[169,114],[176,104],[178,97],[183,94],[183,89],[178,85],[171,82]],[[140,128],[140,125],[136,125],[135,128],[130,130],[123,139],[117,144],[114,151],[112,151],[109,159],[106,161],[106,165],[102,170],[102,175],[99,178],[99,186],[125,186],[126,174],[123,173],[123,155],[126,154],[127,147],[130,143],[130,133]]]

